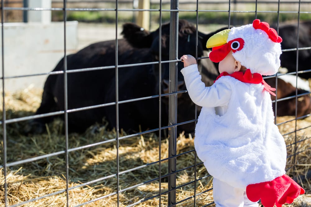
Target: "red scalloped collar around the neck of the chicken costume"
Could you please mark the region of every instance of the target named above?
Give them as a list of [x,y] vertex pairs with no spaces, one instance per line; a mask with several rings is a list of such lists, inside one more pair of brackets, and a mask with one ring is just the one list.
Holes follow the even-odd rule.
[[[264,86],[264,90],[266,90],[267,92],[269,92],[271,95],[276,96],[274,92],[272,91],[276,91],[275,88],[272,88],[271,86],[269,86],[262,78],[262,75],[259,73],[251,73],[250,69],[247,69],[245,71],[245,73],[238,71],[238,72],[234,72],[233,74],[229,74],[227,72],[222,72],[217,78],[216,80],[218,80],[220,77],[222,76],[231,76],[243,83],[254,83],[254,84],[259,84],[261,83]],[[215,81],[216,81],[215,80]],[[214,83],[215,83],[214,81]]]

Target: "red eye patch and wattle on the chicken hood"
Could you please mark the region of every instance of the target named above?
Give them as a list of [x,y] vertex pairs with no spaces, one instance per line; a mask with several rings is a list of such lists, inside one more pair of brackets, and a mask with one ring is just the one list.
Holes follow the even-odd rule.
[[[238,42],[239,47],[238,48],[232,48],[232,43]],[[212,62],[220,62],[222,61],[228,53],[232,50],[232,52],[239,51],[244,46],[244,40],[242,38],[236,38],[233,40],[230,40],[228,43],[225,43],[224,45],[213,47],[212,51],[209,54],[209,58]]]

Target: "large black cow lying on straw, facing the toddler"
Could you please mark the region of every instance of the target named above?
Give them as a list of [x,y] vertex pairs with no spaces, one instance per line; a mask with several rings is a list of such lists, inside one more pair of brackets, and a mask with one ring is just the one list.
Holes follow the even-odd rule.
[[[169,24],[161,27],[161,60],[169,60]],[[220,29],[222,30],[222,29]],[[218,31],[220,31],[218,30]],[[198,32],[198,57],[207,50],[205,44],[211,34]],[[141,27],[127,23],[123,25],[123,39],[118,40],[118,70],[98,69],[67,73],[67,106],[69,132],[83,132],[95,122],[102,122],[105,117],[109,128],[116,127],[116,85],[118,86],[118,123],[119,128],[128,133],[155,129],[159,127],[159,64],[141,64],[159,60],[159,29],[149,32]],[[196,56],[196,28],[186,20],[179,20],[178,58],[183,54]],[[115,40],[91,44],[75,54],[67,56],[67,70],[95,68],[116,65]],[[206,55],[205,55],[206,56]],[[178,62],[179,90],[185,90],[180,70],[183,63]],[[202,79],[211,85],[218,75],[213,64],[207,59],[199,61]],[[53,71],[63,71],[62,59]],[[161,64],[162,94],[167,92],[169,63]],[[116,78],[116,73],[118,77]],[[117,81],[117,82],[116,82]],[[151,97],[155,96],[155,97]],[[151,97],[145,100],[122,102],[134,98]],[[98,106],[87,110],[81,107]],[[64,74],[49,75],[42,95],[42,103],[36,115],[64,110]],[[78,109],[78,110],[77,110]],[[85,108],[84,108],[85,109]],[[161,123],[168,124],[168,97],[162,97]],[[178,122],[195,118],[195,105],[187,93],[178,95]],[[62,115],[61,117],[64,118]],[[26,127],[27,133],[42,133],[45,123],[54,117],[34,119]],[[194,123],[178,127],[179,131],[193,132]]]

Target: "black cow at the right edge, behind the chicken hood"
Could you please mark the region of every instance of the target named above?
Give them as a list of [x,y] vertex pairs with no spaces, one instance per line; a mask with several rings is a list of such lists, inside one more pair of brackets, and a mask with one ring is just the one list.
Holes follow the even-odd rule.
[[[297,48],[297,23],[283,23],[279,26],[279,35],[283,38],[282,49]],[[311,47],[311,21],[299,24],[299,48]],[[281,54],[281,67],[287,68],[288,72],[296,71],[297,51],[285,51]],[[310,70],[311,49],[303,49],[298,52],[298,70]],[[311,72],[298,74],[301,78],[311,78]]]

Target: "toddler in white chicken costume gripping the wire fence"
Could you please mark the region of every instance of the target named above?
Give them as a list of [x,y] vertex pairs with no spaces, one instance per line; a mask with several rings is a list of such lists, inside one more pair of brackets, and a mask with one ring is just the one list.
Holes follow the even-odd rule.
[[[213,176],[216,207],[281,207],[304,194],[285,175],[286,146],[274,124],[271,88],[262,75],[280,67],[282,38],[266,22],[226,29],[207,41],[220,75],[205,87],[193,56],[181,57],[189,96],[202,106],[194,145]],[[274,94],[275,95],[275,94]]]

